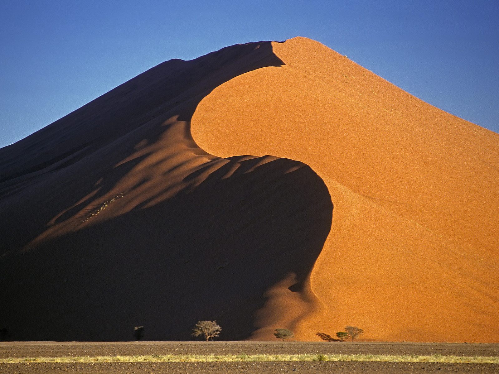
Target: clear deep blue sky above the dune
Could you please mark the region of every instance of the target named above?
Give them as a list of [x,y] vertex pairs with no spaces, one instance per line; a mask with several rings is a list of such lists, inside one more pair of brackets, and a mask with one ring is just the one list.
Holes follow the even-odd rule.
[[162,61],[297,35],[499,132],[498,0],[0,0],[0,147]]

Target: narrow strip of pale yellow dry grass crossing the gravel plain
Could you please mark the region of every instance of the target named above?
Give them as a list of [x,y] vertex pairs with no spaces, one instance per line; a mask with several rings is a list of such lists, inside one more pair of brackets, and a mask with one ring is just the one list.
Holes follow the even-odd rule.
[[0,359],[0,363],[136,363],[136,362],[256,362],[256,361],[357,361],[394,363],[499,364],[499,357],[417,355],[144,355],[26,357]]

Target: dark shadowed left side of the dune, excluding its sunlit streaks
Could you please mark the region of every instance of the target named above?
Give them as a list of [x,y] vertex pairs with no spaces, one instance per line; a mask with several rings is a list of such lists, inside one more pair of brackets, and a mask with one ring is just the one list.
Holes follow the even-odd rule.
[[[301,291],[332,203],[323,181],[288,159],[213,157],[174,197],[148,207],[158,195],[146,196],[128,213],[20,252],[49,222],[82,222],[83,207],[103,203],[149,154],[123,161],[161,141],[165,120],[189,124],[215,87],[281,65],[270,42],[170,60],[0,150],[0,326],[10,339],[127,341],[140,321],[148,340],[192,340],[197,321],[217,320],[222,340],[239,340],[254,331],[270,287],[292,272],[289,289]],[[190,134],[185,143],[206,155]]]

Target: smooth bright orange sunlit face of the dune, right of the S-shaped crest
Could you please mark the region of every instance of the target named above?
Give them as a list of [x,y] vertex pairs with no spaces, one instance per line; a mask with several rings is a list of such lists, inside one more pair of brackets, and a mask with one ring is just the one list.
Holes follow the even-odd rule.
[[284,65],[217,87],[192,134],[214,155],[299,160],[325,181],[333,222],[299,338],[353,325],[373,340],[498,342],[499,135],[316,41],[272,47]]

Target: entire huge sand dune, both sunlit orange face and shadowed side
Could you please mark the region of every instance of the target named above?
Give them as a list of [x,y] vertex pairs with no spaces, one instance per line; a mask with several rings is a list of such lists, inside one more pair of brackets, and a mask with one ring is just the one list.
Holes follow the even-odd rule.
[[498,342],[498,155],[310,39],[167,61],[0,150],[0,328]]

